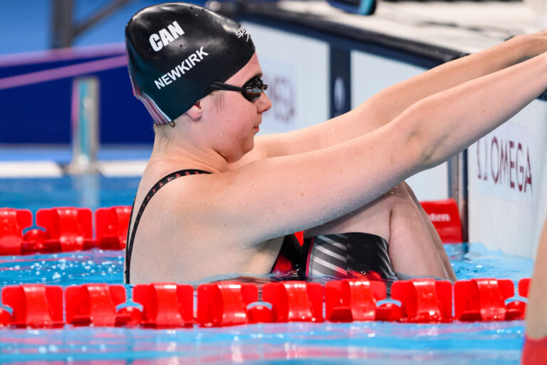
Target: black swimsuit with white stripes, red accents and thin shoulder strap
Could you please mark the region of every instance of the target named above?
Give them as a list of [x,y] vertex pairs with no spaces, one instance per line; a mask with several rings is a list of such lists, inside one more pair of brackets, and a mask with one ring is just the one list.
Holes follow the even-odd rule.
[[[127,229],[125,247],[125,282],[130,283],[130,264],[133,242],[137,227],[150,199],[165,184],[188,175],[210,174],[204,170],[179,170],[162,178],[148,192],[142,201],[133,229]],[[131,208],[132,220],[135,202]],[[131,232],[131,234],[130,234]],[[387,242],[379,236],[368,233],[346,233],[344,235],[325,235],[306,239],[300,247],[295,235],[287,235],[281,245],[272,272],[283,267],[283,279],[303,279],[306,277],[328,276],[335,278],[359,277],[369,272],[377,272],[383,279],[395,278],[390,257],[387,255]]]

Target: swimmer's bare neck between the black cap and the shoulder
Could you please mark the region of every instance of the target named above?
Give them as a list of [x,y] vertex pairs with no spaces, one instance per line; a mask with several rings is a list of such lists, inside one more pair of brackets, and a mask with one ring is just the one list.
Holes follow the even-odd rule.
[[156,134],[150,163],[174,170],[199,169],[210,173],[230,170],[229,162],[213,148],[200,146],[185,138],[165,138]]

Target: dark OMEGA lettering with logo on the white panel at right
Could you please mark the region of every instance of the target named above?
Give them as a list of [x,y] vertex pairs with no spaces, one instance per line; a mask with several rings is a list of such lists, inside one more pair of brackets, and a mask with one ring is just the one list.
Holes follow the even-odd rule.
[[[516,126],[509,129],[519,129]],[[509,131],[509,130],[505,130]],[[489,186],[531,195],[533,168],[528,138],[522,133],[498,130],[476,143],[476,178]]]

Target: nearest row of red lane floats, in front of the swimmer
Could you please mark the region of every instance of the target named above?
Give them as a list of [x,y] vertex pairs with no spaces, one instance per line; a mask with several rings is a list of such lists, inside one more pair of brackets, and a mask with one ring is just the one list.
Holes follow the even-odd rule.
[[[530,279],[519,282],[521,297],[526,297],[529,283]],[[380,304],[386,297],[383,282],[363,279],[327,282],[324,287],[310,282],[272,282],[261,287],[261,297],[255,284],[231,281],[202,284],[195,292],[189,284],[137,284],[132,303],[127,302],[123,285],[83,284],[63,291],[56,285],[21,284],[1,291],[1,303],[9,308],[0,308],[0,327],[69,324],[165,329],[325,320],[486,322],[523,319],[526,310],[526,302],[507,300],[514,297],[514,287],[506,279],[462,280],[454,285],[411,279],[392,284],[391,298],[400,305]]]

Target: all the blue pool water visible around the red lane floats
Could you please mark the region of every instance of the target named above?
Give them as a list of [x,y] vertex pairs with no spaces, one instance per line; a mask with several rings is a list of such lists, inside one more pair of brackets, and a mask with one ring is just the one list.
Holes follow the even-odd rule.
[[[130,205],[137,178],[0,179],[0,207]],[[532,262],[447,245],[459,279],[531,276]],[[123,252],[0,257],[0,288],[123,282]],[[126,286],[128,292],[130,287]],[[523,322],[254,324],[220,329],[0,329],[8,364],[519,364]]]

